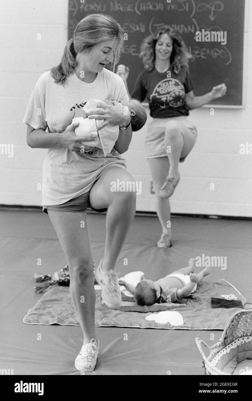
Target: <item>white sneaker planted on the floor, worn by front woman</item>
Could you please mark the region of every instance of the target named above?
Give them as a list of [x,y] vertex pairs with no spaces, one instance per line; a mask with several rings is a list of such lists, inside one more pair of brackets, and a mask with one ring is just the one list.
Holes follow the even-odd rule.
[[77,357],[75,358],[75,369],[82,372],[92,372],[95,369],[99,352],[99,341],[92,338],[91,342],[83,344]]

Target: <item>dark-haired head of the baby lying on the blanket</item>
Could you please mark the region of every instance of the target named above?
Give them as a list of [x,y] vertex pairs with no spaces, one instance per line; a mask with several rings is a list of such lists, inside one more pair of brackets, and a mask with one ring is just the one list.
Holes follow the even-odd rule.
[[134,292],[137,305],[153,305],[160,298],[160,286],[152,280],[141,280]]

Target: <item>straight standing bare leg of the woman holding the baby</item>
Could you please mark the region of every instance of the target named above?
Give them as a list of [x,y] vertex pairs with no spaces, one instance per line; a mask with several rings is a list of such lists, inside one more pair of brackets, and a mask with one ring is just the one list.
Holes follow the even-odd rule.
[[48,209],[48,215],[69,266],[70,293],[83,331],[83,344],[89,343],[92,338],[97,340],[97,337],[93,258],[87,233],[87,213]]

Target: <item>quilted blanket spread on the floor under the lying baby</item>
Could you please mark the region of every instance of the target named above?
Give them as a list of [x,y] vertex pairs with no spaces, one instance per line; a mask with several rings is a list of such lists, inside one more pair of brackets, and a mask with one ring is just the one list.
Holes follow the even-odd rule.
[[[224,330],[228,320],[239,308],[211,308],[211,297],[235,294],[242,304],[245,298],[225,280],[203,282],[197,292],[182,300],[181,304],[155,304],[150,307],[137,306],[133,298],[122,295],[120,310],[107,308],[101,300],[101,290],[96,290],[95,326],[119,326],[159,329]],[[179,312],[183,324],[176,326],[169,322],[155,322],[157,312]],[[151,315],[151,316],[150,316]],[[152,320],[147,320],[152,319]],[[156,319],[158,320],[158,319]],[[160,319],[158,320],[160,321]],[[55,286],[28,310],[23,322],[26,324],[60,324],[79,326],[71,300],[69,287]]]

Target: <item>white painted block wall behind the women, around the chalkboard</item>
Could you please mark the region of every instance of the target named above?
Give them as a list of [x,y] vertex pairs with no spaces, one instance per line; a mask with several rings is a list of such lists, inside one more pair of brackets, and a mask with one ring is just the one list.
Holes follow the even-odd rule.
[[[247,3],[244,108],[215,107],[214,116],[209,108],[191,111],[198,141],[180,164],[181,181],[171,198],[173,213],[252,216],[252,155],[239,153],[240,144],[252,143],[252,5]],[[41,206],[37,184],[42,180],[46,150],[26,145],[22,118],[36,80],[60,61],[67,41],[67,9],[67,0],[10,0],[1,4],[0,144],[14,144],[14,156],[0,154],[0,204]],[[142,181],[137,210],[155,211],[144,158],[145,135],[146,126],[133,135],[125,158],[135,180]]]

